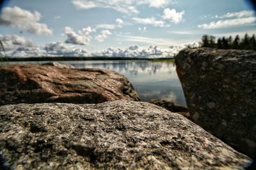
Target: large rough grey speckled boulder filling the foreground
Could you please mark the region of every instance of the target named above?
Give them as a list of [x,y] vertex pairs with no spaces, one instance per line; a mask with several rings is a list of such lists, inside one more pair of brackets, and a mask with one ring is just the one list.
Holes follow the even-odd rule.
[[243,169],[251,161],[177,113],[150,103],[0,107],[10,169]]

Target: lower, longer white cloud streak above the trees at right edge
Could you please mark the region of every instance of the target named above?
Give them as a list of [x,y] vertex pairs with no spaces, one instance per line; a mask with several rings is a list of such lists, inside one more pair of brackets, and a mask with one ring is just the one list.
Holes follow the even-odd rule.
[[218,20],[216,22],[210,22],[209,24],[198,25],[198,27],[202,29],[220,29],[220,28],[234,27],[234,26],[245,25],[245,24],[255,24],[255,21],[256,21],[255,17],[235,18],[231,20]]

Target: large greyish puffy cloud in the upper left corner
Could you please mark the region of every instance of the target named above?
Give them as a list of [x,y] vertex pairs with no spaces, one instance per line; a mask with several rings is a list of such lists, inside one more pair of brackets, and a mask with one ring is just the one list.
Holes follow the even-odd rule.
[[0,16],[0,25],[18,27],[22,31],[33,34],[51,35],[52,30],[46,24],[39,23],[41,14],[38,11],[32,13],[18,6],[3,8]]

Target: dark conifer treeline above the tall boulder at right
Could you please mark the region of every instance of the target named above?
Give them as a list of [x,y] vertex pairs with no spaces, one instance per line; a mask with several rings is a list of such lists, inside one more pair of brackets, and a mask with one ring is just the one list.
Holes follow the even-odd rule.
[[229,36],[226,38],[218,38],[205,34],[201,38],[201,47],[220,48],[220,49],[240,49],[240,50],[256,50],[255,34],[248,36],[246,33],[243,38],[237,35],[235,38]]

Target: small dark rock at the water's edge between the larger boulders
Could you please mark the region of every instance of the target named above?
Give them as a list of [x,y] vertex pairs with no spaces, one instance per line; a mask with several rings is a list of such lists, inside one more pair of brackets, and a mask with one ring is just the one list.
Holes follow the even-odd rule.
[[161,99],[152,99],[149,103],[156,104],[168,111],[172,111],[174,113],[179,113],[180,115],[190,119],[188,108],[181,106],[179,104],[175,104],[172,101],[166,101]]

